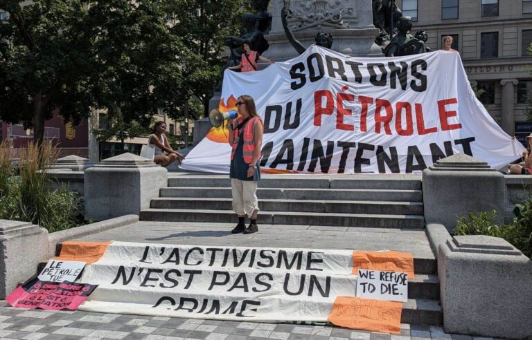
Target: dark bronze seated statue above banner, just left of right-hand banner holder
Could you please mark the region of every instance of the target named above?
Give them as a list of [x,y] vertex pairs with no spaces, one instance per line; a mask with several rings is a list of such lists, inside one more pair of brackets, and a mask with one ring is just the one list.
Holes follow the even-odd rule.
[[384,48],[384,55],[387,57],[398,57],[402,55],[416,55],[425,53],[425,41],[427,34],[421,30],[416,32],[416,37],[409,33],[412,28],[410,17],[401,17],[398,21],[398,33],[391,39],[390,43]]

